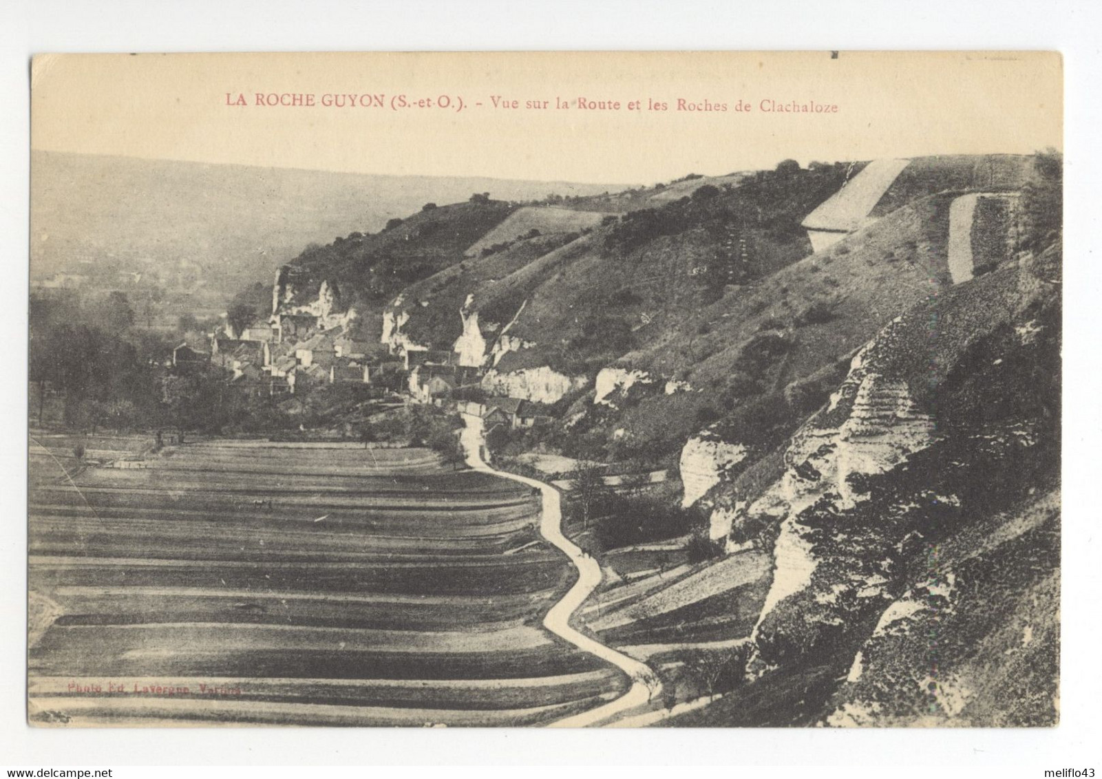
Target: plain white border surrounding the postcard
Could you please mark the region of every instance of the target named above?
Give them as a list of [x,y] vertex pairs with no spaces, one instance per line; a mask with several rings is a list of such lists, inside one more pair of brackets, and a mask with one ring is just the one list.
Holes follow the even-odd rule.
[[[1088,2],[60,2],[0,6],[0,766],[728,764],[1042,777],[1099,760],[1100,57]],[[46,731],[26,727],[28,67],[41,52],[1033,48],[1065,54],[1061,724],[1051,731]],[[997,770],[993,767],[1001,767]],[[952,768],[950,768],[952,767]],[[332,769],[331,769],[332,770]],[[469,769],[466,769],[469,770]],[[737,769],[736,769],[737,770]],[[763,769],[748,769],[760,772]],[[890,769],[889,769],[890,770]],[[228,769],[206,769],[216,777]],[[343,771],[342,771],[343,772]],[[541,773],[544,771],[541,771]],[[660,769],[669,776],[667,769]],[[325,772],[326,775],[329,771]],[[914,776],[918,771],[907,771]],[[163,773],[168,776],[169,773]],[[175,775],[175,772],[173,773]],[[194,772],[190,772],[194,776]],[[261,772],[257,771],[257,776]],[[281,771],[280,776],[291,776]],[[561,776],[561,773],[558,773]],[[184,776],[180,772],[180,776]]]

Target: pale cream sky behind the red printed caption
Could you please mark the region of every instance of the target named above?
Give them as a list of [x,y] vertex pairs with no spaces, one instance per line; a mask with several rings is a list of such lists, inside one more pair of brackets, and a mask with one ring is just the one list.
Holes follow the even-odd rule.
[[[42,55],[31,131],[36,150],[650,184],[1060,149],[1061,79],[1044,52]],[[827,110],[776,109],[812,104]]]

